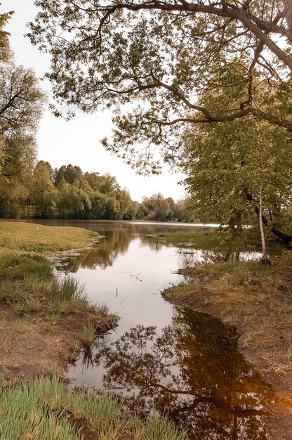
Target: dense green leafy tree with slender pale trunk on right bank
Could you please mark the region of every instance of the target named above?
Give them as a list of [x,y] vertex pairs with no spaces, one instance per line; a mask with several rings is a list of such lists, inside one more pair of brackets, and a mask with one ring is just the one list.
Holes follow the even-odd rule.
[[291,209],[291,135],[248,117],[244,121],[196,127],[185,134],[185,186],[202,221],[241,228],[253,214],[286,242],[279,231]]

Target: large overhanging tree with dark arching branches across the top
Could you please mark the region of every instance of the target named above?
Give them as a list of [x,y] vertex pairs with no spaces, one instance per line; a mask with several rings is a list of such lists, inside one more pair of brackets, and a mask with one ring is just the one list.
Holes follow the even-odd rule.
[[[54,96],[86,112],[113,107],[114,136],[104,145],[128,164],[145,169],[155,159],[151,145],[172,160],[184,124],[253,115],[292,131],[290,0],[37,0],[36,6],[30,38],[51,54]],[[226,106],[230,90],[234,100]],[[208,107],[211,94],[217,102]],[[142,153],[135,153],[137,143]],[[155,160],[151,170],[159,172]]]

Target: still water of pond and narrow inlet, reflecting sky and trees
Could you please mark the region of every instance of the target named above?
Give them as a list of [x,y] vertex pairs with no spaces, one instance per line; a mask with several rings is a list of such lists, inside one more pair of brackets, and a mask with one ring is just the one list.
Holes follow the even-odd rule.
[[55,267],[60,276],[74,273],[91,302],[105,303],[120,316],[118,327],[69,367],[74,384],[123,394],[129,408],[142,412],[167,410],[190,440],[270,438],[265,423],[272,389],[237,350],[235,330],[161,297],[166,287],[184,282],[178,268],[214,257],[200,250],[184,253],[157,238],[194,226],[44,223],[81,226],[103,236]]

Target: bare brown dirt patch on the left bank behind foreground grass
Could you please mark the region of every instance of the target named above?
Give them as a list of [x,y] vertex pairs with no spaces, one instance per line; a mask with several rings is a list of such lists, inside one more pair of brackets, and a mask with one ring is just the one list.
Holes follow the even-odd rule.
[[[0,373],[6,380],[30,380],[36,375],[64,375],[67,365],[81,349],[81,332],[86,313],[69,313],[58,322],[44,321],[42,316],[29,315],[25,325],[10,308],[1,309]],[[95,323],[98,331],[108,330],[104,319]]]

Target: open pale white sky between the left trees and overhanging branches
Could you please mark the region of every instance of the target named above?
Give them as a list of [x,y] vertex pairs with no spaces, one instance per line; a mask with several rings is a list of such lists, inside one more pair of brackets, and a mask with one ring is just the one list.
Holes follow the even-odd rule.
[[[41,77],[48,69],[49,58],[24,37],[28,32],[26,23],[34,20],[34,1],[0,1],[1,12],[15,11],[6,30],[11,32],[11,47],[17,63],[33,67],[37,77]],[[48,83],[43,82],[41,85],[49,90]],[[131,198],[138,202],[142,200],[142,196],[149,197],[154,193],[162,193],[165,197],[175,200],[183,197],[183,186],[177,184],[184,179],[183,174],[171,174],[167,167],[164,167],[163,174],[159,176],[138,176],[119,157],[107,153],[100,144],[100,139],[110,136],[111,127],[110,111],[93,115],[79,112],[74,119],[66,122],[54,117],[50,110],[46,110],[37,134],[39,160],[50,162],[52,167],[70,163],[78,165],[84,172],[109,173],[115,176],[121,188],[127,188]]]

